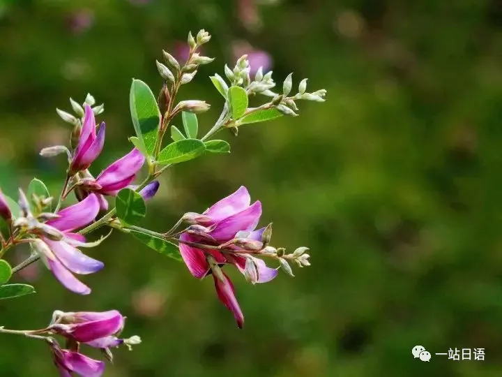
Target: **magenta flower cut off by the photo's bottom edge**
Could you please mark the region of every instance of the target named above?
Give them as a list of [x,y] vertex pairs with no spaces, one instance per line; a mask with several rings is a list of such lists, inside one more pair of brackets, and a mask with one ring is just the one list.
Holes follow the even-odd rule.
[[63,350],[56,341],[53,341],[51,346],[54,364],[60,377],[71,377],[74,373],[82,377],[100,377],[105,371],[104,362],[72,350]]

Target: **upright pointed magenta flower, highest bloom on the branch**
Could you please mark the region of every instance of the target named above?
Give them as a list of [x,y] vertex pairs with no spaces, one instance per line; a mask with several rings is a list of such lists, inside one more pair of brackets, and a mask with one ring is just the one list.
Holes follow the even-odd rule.
[[105,122],[101,123],[96,135],[94,112],[91,106],[85,105],[84,124],[82,124],[77,148],[73,153],[70,174],[75,175],[80,170],[89,168],[100,155],[103,145],[105,145]]

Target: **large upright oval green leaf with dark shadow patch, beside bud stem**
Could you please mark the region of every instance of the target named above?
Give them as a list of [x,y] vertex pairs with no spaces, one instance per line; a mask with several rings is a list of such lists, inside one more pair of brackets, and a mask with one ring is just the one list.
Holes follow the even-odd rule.
[[151,156],[158,138],[160,110],[155,96],[142,80],[132,80],[129,105],[138,140],[144,145],[143,150]]

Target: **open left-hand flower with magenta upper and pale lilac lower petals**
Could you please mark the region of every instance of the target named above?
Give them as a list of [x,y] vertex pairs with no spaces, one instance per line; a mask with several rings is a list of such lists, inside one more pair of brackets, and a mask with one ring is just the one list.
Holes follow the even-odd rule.
[[40,235],[40,239],[33,242],[45,265],[52,271],[56,279],[69,290],[87,295],[91,288],[79,281],[73,274],[92,274],[98,272],[103,263],[86,256],[77,246],[87,246],[85,237],[73,230],[91,223],[99,212],[99,201],[96,195],[89,195],[82,202],[62,209],[57,214],[59,218],[47,221],[45,226],[55,229],[62,235],[56,241]]

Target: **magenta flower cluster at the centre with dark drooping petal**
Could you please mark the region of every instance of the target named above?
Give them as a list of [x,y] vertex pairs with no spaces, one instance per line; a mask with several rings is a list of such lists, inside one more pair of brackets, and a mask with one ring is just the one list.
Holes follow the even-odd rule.
[[[251,198],[248,190],[241,186],[235,193],[227,196],[207,209],[203,214],[188,213],[184,219],[195,225],[195,232],[185,232],[180,237],[179,249],[185,265],[190,273],[197,279],[203,279],[208,274],[213,274],[216,292],[220,301],[234,313],[238,327],[243,326],[243,313],[235,297],[234,286],[224,273],[214,273],[215,266],[208,262],[208,257],[213,258],[218,265],[235,265],[243,274],[245,272],[246,258],[238,254],[239,246],[232,247],[235,253],[223,254],[218,250],[198,249],[197,247],[183,244],[183,242],[197,243],[204,240],[205,244],[211,243],[218,246],[229,242],[232,239],[243,240],[241,235],[245,235],[246,242],[256,242],[258,249],[261,244],[261,235],[265,228],[254,230],[261,216],[261,203],[259,201],[250,205]],[[202,231],[206,229],[206,232]],[[277,270],[266,267],[262,260],[257,260],[257,277],[255,282],[266,283],[277,276]]]

